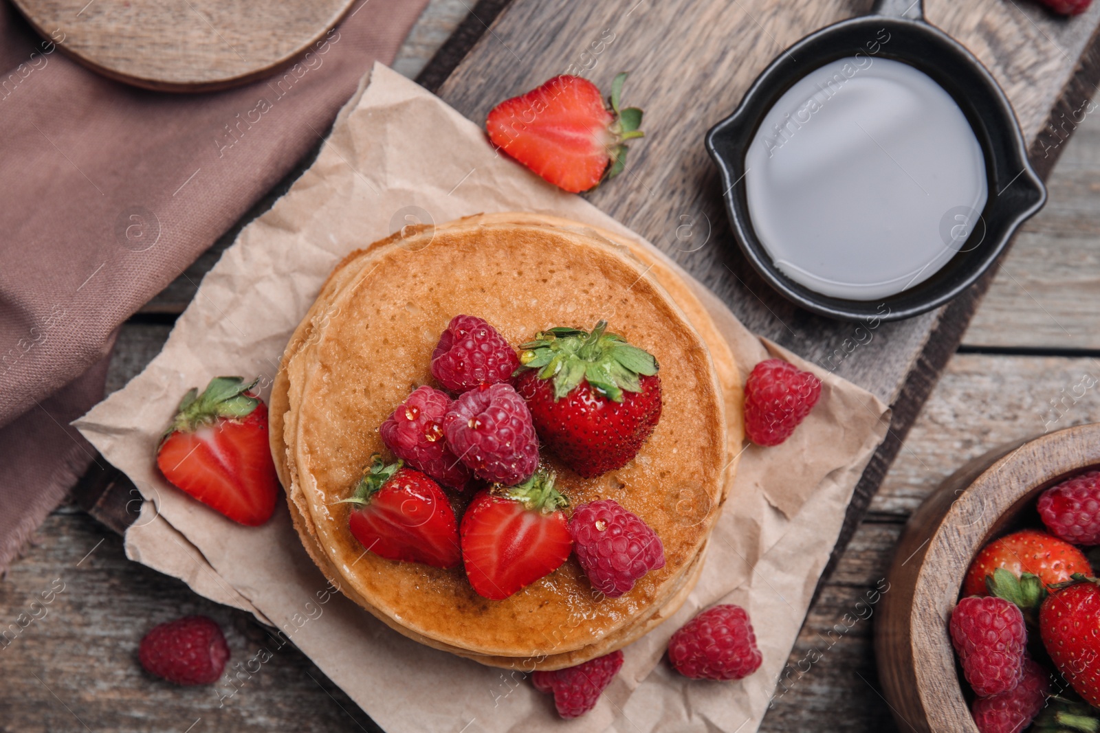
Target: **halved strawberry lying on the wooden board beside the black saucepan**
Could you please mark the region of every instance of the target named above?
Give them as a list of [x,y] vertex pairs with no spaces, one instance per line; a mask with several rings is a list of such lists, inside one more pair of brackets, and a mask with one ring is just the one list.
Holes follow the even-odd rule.
[[485,120],[498,148],[544,180],[572,193],[623,171],[627,147],[641,137],[641,110],[620,109],[626,74],[612,81],[604,105],[600,88],[576,76],[556,76],[541,87],[494,107]]

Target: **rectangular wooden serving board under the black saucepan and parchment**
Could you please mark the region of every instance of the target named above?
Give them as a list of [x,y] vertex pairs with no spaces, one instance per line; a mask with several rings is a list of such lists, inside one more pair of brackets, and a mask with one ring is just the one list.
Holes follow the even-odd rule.
[[[909,321],[848,323],[798,309],[771,290],[737,248],[703,136],[790,44],[867,13],[870,5],[869,0],[484,0],[466,23],[468,33],[484,31],[473,48],[446,73],[461,48],[444,47],[421,75],[431,84],[446,73],[439,95],[481,123],[497,101],[556,74],[582,74],[607,88],[618,71],[631,73],[624,101],[646,110],[646,137],[631,144],[626,171],[588,200],[664,249],[750,330],[893,407],[891,431],[856,488],[834,559],[996,268],[950,304]],[[1074,19],[1055,16],[1033,0],[926,0],[924,9],[931,23],[969,48],[1001,84],[1045,177],[1097,91],[1100,3]]]

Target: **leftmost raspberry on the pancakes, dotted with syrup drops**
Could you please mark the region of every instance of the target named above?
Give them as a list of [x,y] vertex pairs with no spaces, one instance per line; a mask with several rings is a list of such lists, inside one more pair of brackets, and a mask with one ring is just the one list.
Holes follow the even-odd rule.
[[451,403],[447,392],[417,387],[378,431],[382,442],[398,458],[443,486],[462,490],[470,480],[470,469],[454,455],[443,435],[443,415]]

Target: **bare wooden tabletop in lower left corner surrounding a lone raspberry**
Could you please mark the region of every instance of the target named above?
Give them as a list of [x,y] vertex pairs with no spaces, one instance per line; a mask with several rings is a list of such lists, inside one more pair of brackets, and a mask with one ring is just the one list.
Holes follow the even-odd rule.
[[[381,730],[293,645],[278,647],[250,614],[128,560],[122,538],[82,512],[55,512],[37,536],[0,584],[0,631],[8,632],[0,642],[0,731]],[[52,602],[43,602],[43,591],[57,588]],[[235,674],[238,664],[244,669],[235,693],[229,675],[219,686],[184,688],[139,665],[146,630],[191,613],[209,615],[224,631],[227,671]],[[21,614],[28,617],[20,621]],[[261,648],[272,658],[250,674]]]

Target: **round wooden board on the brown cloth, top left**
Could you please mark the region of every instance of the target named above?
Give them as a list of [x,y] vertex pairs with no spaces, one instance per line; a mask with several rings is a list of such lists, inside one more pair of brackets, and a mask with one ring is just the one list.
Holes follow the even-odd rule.
[[13,0],[45,38],[94,70],[161,91],[224,89],[321,41],[355,0]]

